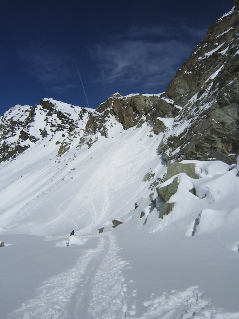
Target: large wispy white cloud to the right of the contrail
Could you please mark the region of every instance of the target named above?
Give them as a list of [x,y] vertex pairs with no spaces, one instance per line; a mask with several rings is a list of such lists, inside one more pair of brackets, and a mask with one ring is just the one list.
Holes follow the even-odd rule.
[[192,42],[201,41],[205,32],[188,26],[135,26],[91,49],[98,81],[145,89],[168,84],[191,53]]

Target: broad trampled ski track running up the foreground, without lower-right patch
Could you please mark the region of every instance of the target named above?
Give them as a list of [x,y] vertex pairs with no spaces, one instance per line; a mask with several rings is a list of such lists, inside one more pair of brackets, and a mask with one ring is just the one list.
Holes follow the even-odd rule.
[[35,298],[7,318],[125,318],[122,269],[127,263],[117,253],[111,232],[99,236],[96,249],[85,250],[74,267],[45,281]]

